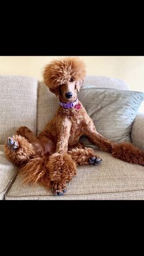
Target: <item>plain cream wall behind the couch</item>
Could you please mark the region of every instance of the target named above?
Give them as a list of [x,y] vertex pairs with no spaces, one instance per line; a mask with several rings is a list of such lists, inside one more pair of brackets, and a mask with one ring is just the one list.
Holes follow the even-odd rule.
[[[0,56],[0,75],[24,75],[41,80],[43,67],[57,57]],[[120,78],[132,90],[144,92],[144,56],[81,56],[81,59],[87,65],[87,75]]]

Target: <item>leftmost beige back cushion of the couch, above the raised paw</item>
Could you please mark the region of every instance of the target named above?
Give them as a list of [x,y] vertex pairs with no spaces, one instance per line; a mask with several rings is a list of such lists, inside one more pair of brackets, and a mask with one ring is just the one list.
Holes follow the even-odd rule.
[[0,144],[20,126],[36,131],[37,90],[37,79],[0,76]]

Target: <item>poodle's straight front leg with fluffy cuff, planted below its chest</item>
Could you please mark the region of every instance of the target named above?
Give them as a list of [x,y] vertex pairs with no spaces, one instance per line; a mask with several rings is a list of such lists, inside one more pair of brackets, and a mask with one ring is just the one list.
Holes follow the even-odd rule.
[[56,153],[49,156],[47,163],[51,186],[54,194],[57,196],[63,195],[66,192],[66,183],[76,175],[76,164],[67,153],[70,132],[70,120],[58,118]]

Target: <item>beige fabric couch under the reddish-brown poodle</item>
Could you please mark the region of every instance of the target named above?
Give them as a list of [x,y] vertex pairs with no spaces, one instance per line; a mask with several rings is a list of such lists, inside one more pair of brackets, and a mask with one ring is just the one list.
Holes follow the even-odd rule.
[[[128,90],[125,82],[87,76],[85,85]],[[21,125],[40,133],[58,106],[43,82],[24,76],[0,76],[0,199],[1,200],[131,200],[144,199],[144,167],[125,163],[109,153],[95,150],[103,158],[101,166],[79,166],[68,183],[65,196],[53,196],[39,185],[23,185],[18,168],[4,156],[4,142]],[[93,104],[92,102],[90,104]],[[131,130],[132,142],[143,148],[144,115],[139,114]]]

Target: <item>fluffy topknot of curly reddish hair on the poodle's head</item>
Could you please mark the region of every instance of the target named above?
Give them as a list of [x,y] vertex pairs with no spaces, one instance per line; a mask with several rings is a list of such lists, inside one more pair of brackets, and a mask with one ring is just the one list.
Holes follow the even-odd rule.
[[49,89],[55,89],[68,81],[79,81],[86,76],[86,67],[78,57],[53,60],[46,65],[43,78]]

